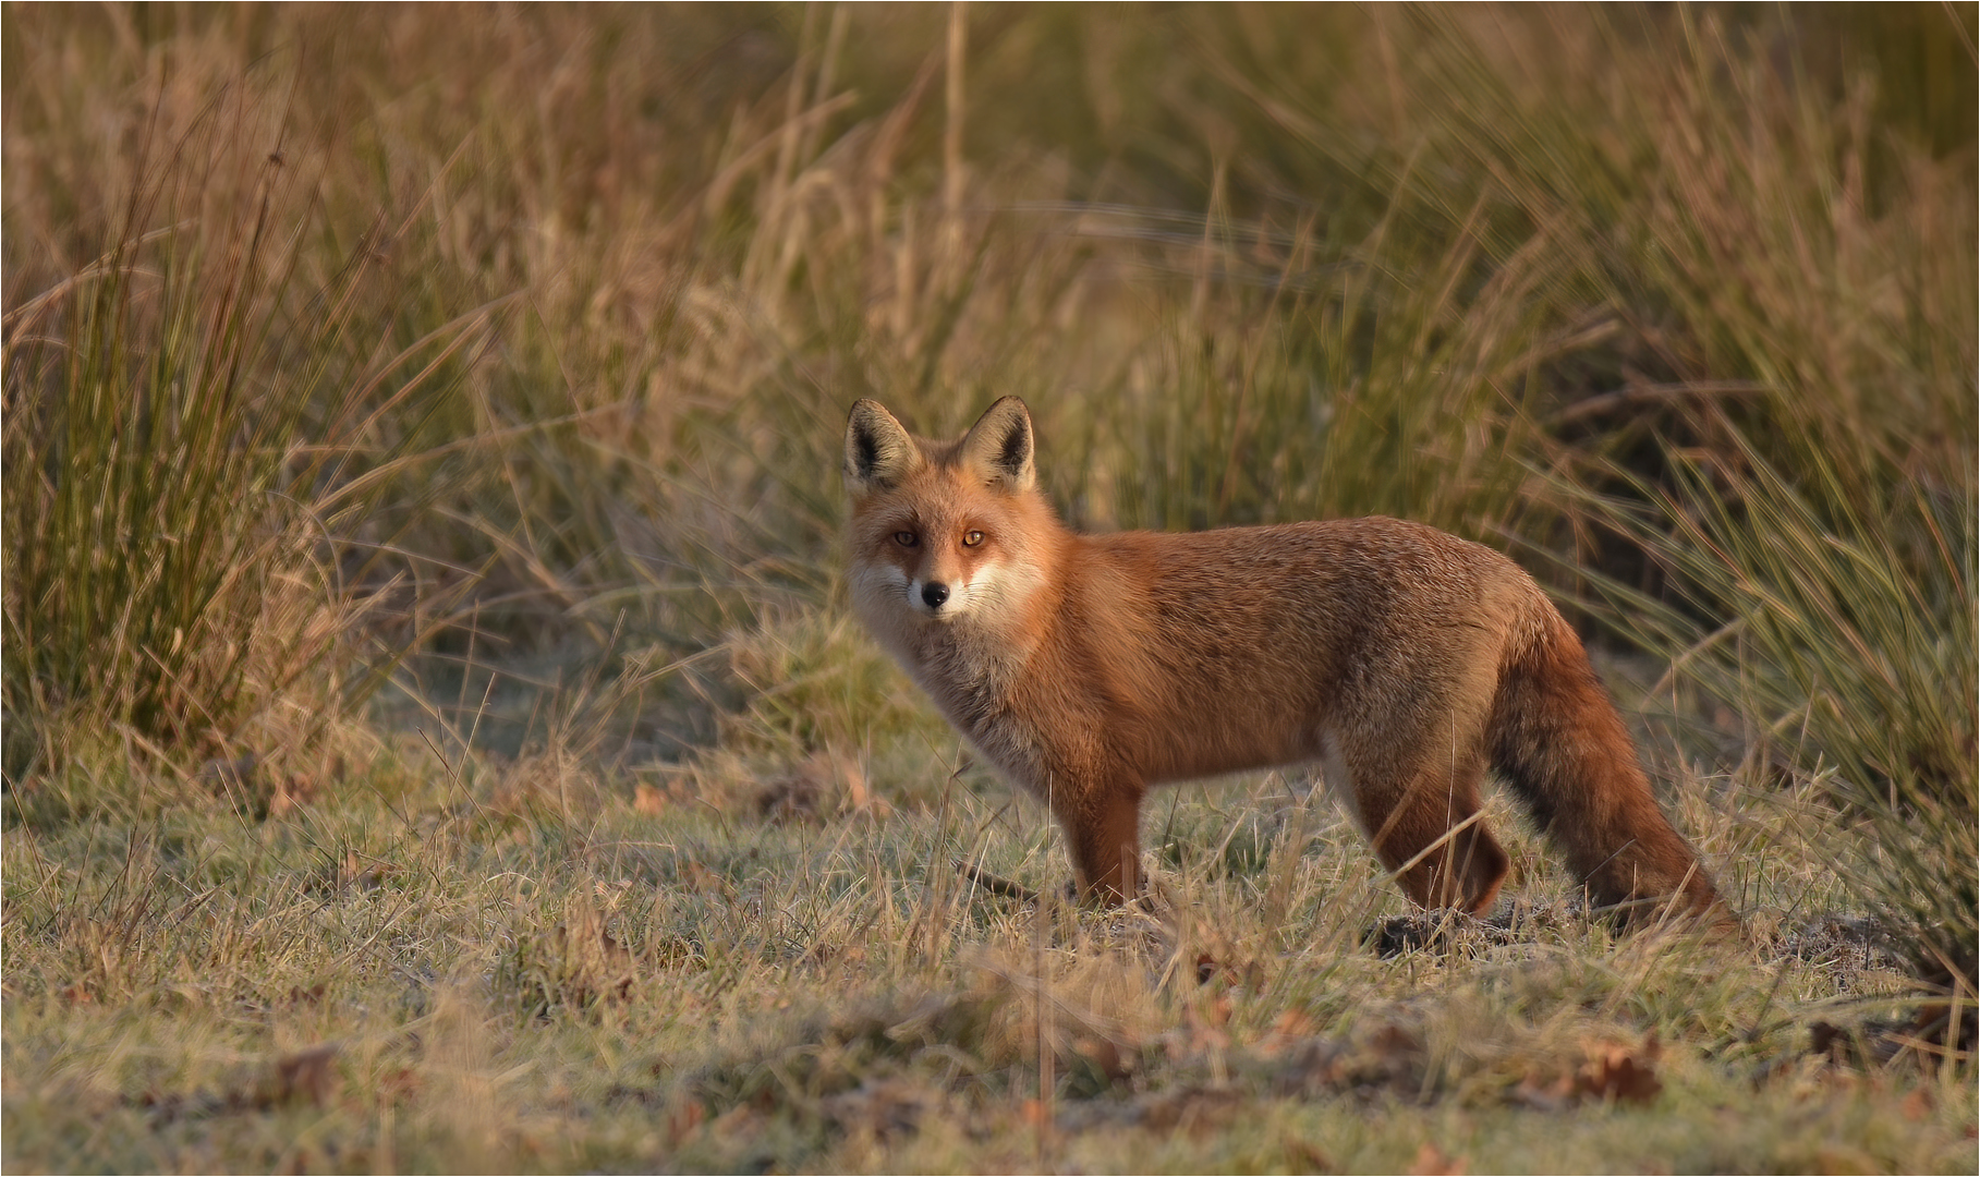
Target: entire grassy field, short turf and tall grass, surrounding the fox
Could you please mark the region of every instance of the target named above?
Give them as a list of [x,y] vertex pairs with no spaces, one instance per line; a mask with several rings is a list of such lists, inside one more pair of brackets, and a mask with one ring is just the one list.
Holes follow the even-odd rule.
[[[1976,24],[0,8],[0,1161],[1972,1171]],[[1055,902],[838,547],[1010,392],[1513,553],[1746,935],[1307,771]]]

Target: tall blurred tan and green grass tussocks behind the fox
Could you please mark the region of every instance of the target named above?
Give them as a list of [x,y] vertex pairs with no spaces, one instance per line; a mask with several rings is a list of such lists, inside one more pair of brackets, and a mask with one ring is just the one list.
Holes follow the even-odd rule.
[[406,715],[925,743],[843,412],[1016,392],[1083,527],[1515,551],[1970,993],[1970,4],[0,22],[10,824]]

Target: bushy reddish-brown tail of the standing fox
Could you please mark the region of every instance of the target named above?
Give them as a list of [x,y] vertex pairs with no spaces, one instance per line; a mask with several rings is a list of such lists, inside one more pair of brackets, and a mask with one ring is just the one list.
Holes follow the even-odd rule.
[[[1544,610],[1540,614],[1538,610]],[[1536,602],[1493,701],[1491,755],[1596,904],[1655,917],[1715,911],[1699,856],[1657,808],[1635,743],[1566,620]]]

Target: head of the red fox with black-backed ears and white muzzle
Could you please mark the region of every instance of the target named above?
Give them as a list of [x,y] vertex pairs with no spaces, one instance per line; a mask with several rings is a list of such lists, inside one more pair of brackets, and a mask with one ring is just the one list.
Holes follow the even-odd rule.
[[853,600],[875,622],[994,620],[1041,583],[1057,517],[1038,489],[1032,414],[992,404],[956,442],[909,434],[873,400],[845,422]]

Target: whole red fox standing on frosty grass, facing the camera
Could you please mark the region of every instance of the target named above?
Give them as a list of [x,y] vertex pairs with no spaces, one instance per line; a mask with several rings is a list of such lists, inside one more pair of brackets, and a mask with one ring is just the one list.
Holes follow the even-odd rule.
[[1079,535],[1016,396],[958,442],[859,400],[845,485],[853,608],[1047,802],[1085,898],[1138,894],[1148,787],[1317,761],[1410,900],[1485,913],[1489,765],[1596,904],[1723,917],[1580,638],[1489,547],[1382,517]]

